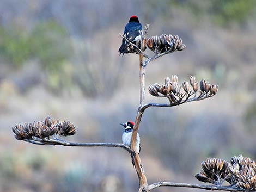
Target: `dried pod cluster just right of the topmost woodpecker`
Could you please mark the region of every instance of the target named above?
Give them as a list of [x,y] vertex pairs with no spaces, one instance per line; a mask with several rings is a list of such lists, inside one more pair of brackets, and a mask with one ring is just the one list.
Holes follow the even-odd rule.
[[155,53],[182,51],[186,48],[185,44],[182,44],[182,39],[178,35],[166,35],[152,36],[147,39],[148,48]]

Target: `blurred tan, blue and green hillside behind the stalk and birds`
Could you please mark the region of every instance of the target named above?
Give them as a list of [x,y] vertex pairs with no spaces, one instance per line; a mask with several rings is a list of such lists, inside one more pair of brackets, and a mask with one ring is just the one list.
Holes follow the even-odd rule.
[[[198,183],[207,157],[256,159],[256,1],[1,0],[0,13],[0,191],[138,190],[124,150],[36,146],[11,131],[51,115],[77,127],[66,140],[121,143],[119,123],[134,120],[139,103],[138,55],[118,54],[131,15],[150,23],[149,36],[177,34],[187,44],[148,65],[147,87],[173,74],[220,85],[208,100],[146,110],[148,182]],[[155,191],[185,190],[195,191]]]

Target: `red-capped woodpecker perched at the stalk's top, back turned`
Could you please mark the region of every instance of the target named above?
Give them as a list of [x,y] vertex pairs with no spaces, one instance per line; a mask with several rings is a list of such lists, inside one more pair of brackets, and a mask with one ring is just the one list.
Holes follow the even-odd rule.
[[[136,15],[133,15],[130,17],[129,23],[127,23],[124,28],[124,34],[126,35],[126,39],[130,40],[131,42],[138,41],[139,39],[141,39],[141,34],[139,33],[139,31],[141,31],[141,33],[143,33],[142,24],[139,23],[138,17]],[[129,53],[127,51],[128,46],[129,46],[129,44],[123,39],[122,45],[118,50],[119,55],[123,54],[123,56],[124,56],[125,53]]]

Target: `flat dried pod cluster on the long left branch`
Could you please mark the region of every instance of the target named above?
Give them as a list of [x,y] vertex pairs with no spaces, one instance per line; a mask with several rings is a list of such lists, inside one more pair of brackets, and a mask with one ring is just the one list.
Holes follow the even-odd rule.
[[47,116],[44,121],[33,123],[17,123],[13,126],[14,137],[17,140],[58,138],[58,136],[74,135],[75,126],[66,120],[53,120]]

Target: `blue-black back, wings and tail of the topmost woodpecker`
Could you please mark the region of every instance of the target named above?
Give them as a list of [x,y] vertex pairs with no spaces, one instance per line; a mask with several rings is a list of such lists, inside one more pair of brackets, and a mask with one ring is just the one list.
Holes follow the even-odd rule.
[[[141,23],[138,23],[138,22],[129,22],[126,24],[125,28],[124,28],[124,34],[126,35],[126,39],[129,39],[131,38],[131,42],[133,42],[139,35],[139,31],[142,32],[143,30],[143,27],[142,27],[142,24]],[[125,54],[127,53],[127,46],[129,46],[129,44],[123,39],[122,40],[122,45],[121,47],[119,48],[119,54]]]

